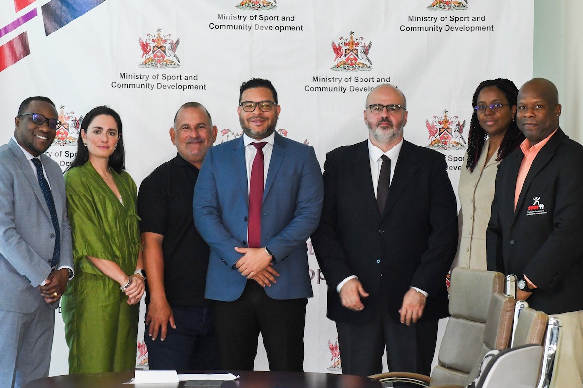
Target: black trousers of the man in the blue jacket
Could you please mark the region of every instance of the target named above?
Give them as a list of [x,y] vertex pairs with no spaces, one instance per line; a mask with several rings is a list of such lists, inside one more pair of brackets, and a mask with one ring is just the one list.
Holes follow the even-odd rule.
[[248,280],[235,301],[213,302],[223,369],[252,371],[259,332],[270,371],[303,372],[306,298],[276,300]]

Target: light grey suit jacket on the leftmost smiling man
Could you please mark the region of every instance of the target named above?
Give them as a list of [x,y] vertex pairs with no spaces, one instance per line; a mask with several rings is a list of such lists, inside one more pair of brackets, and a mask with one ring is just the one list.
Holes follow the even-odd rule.
[[[59,266],[73,266],[65,184],[57,162],[43,162],[61,228]],[[0,309],[33,312],[45,303],[37,286],[51,272],[55,230],[38,179],[13,139],[0,147]],[[58,303],[52,305],[58,307]]]

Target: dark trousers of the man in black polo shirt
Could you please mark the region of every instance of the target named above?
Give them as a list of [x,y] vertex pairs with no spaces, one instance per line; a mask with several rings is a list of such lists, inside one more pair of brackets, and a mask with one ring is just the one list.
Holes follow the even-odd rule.
[[221,369],[217,341],[208,307],[175,307],[176,329],[168,325],[166,339],[144,333],[150,369],[197,371]]

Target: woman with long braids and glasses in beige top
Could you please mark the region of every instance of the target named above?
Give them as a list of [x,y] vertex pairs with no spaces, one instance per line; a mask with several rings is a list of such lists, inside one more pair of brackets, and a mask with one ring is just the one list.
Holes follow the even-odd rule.
[[486,227],[498,164],[524,136],[515,121],[518,88],[507,79],[486,80],[472,98],[468,151],[459,176],[459,244],[454,264],[486,269]]

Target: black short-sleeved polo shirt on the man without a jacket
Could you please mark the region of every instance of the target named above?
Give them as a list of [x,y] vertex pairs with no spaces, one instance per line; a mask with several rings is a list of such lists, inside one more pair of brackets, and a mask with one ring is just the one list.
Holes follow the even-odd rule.
[[[210,250],[196,230],[192,216],[198,172],[198,168],[176,155],[142,181],[138,195],[140,232],[164,236],[166,299],[170,305],[181,307],[205,304]],[[146,287],[146,304],[149,301]]]

